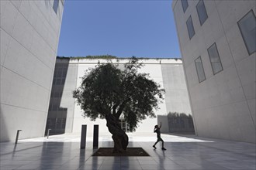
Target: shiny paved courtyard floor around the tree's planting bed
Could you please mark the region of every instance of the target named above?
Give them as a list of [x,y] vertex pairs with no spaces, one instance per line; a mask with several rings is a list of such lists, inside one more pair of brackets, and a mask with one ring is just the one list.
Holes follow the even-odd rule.
[[[193,135],[162,134],[167,151],[152,148],[154,134],[128,134],[129,147],[142,147],[150,157],[92,157],[92,138],[80,149],[79,135],[64,134],[0,143],[0,169],[42,170],[137,170],[195,169],[252,170],[255,167],[255,145],[243,142],[196,138]],[[99,138],[99,147],[112,147],[110,136]]]

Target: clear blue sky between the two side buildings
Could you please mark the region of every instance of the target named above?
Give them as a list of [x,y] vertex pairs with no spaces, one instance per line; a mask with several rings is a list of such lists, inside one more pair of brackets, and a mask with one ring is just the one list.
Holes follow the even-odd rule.
[[180,57],[170,1],[66,0],[57,56]]

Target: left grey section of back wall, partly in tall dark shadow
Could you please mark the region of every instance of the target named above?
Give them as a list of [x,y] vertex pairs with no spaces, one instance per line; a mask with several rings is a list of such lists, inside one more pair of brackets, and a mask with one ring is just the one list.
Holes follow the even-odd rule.
[[45,130],[46,134],[48,128],[51,129],[50,134],[71,133],[73,129],[75,100],[72,91],[76,88],[78,65],[69,63],[70,59],[68,58],[57,58],[47,128]]

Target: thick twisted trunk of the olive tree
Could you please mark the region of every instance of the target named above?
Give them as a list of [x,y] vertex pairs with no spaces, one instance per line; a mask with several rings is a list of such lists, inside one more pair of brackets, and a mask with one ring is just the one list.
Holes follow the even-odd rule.
[[112,134],[112,139],[114,141],[113,152],[123,152],[126,151],[128,145],[128,136],[125,131],[122,130],[119,124],[119,119],[109,114],[106,117],[107,127],[109,132]]

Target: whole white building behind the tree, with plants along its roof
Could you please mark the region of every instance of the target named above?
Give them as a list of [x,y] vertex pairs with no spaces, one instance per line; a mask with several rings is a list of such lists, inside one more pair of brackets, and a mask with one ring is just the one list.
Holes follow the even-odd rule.
[[[51,92],[47,128],[50,134],[80,133],[81,124],[87,124],[88,134],[92,134],[93,124],[99,124],[99,133],[109,133],[106,128],[106,120],[97,119],[90,121],[88,117],[82,117],[80,106],[75,104],[72,91],[80,86],[81,76],[88,68],[94,68],[97,63],[106,63],[106,59],[72,59],[57,58],[54,81]],[[119,62],[120,68],[128,59],[112,59],[112,63]],[[144,67],[142,73],[149,73],[150,78],[164,87],[165,99],[157,110],[156,118],[147,118],[139,124],[136,132],[153,131],[154,125],[162,122],[162,132],[168,132],[168,112],[191,114],[189,96],[185,84],[185,76],[181,59],[140,59]],[[122,121],[122,120],[121,120]],[[123,129],[127,130],[122,121]]]

